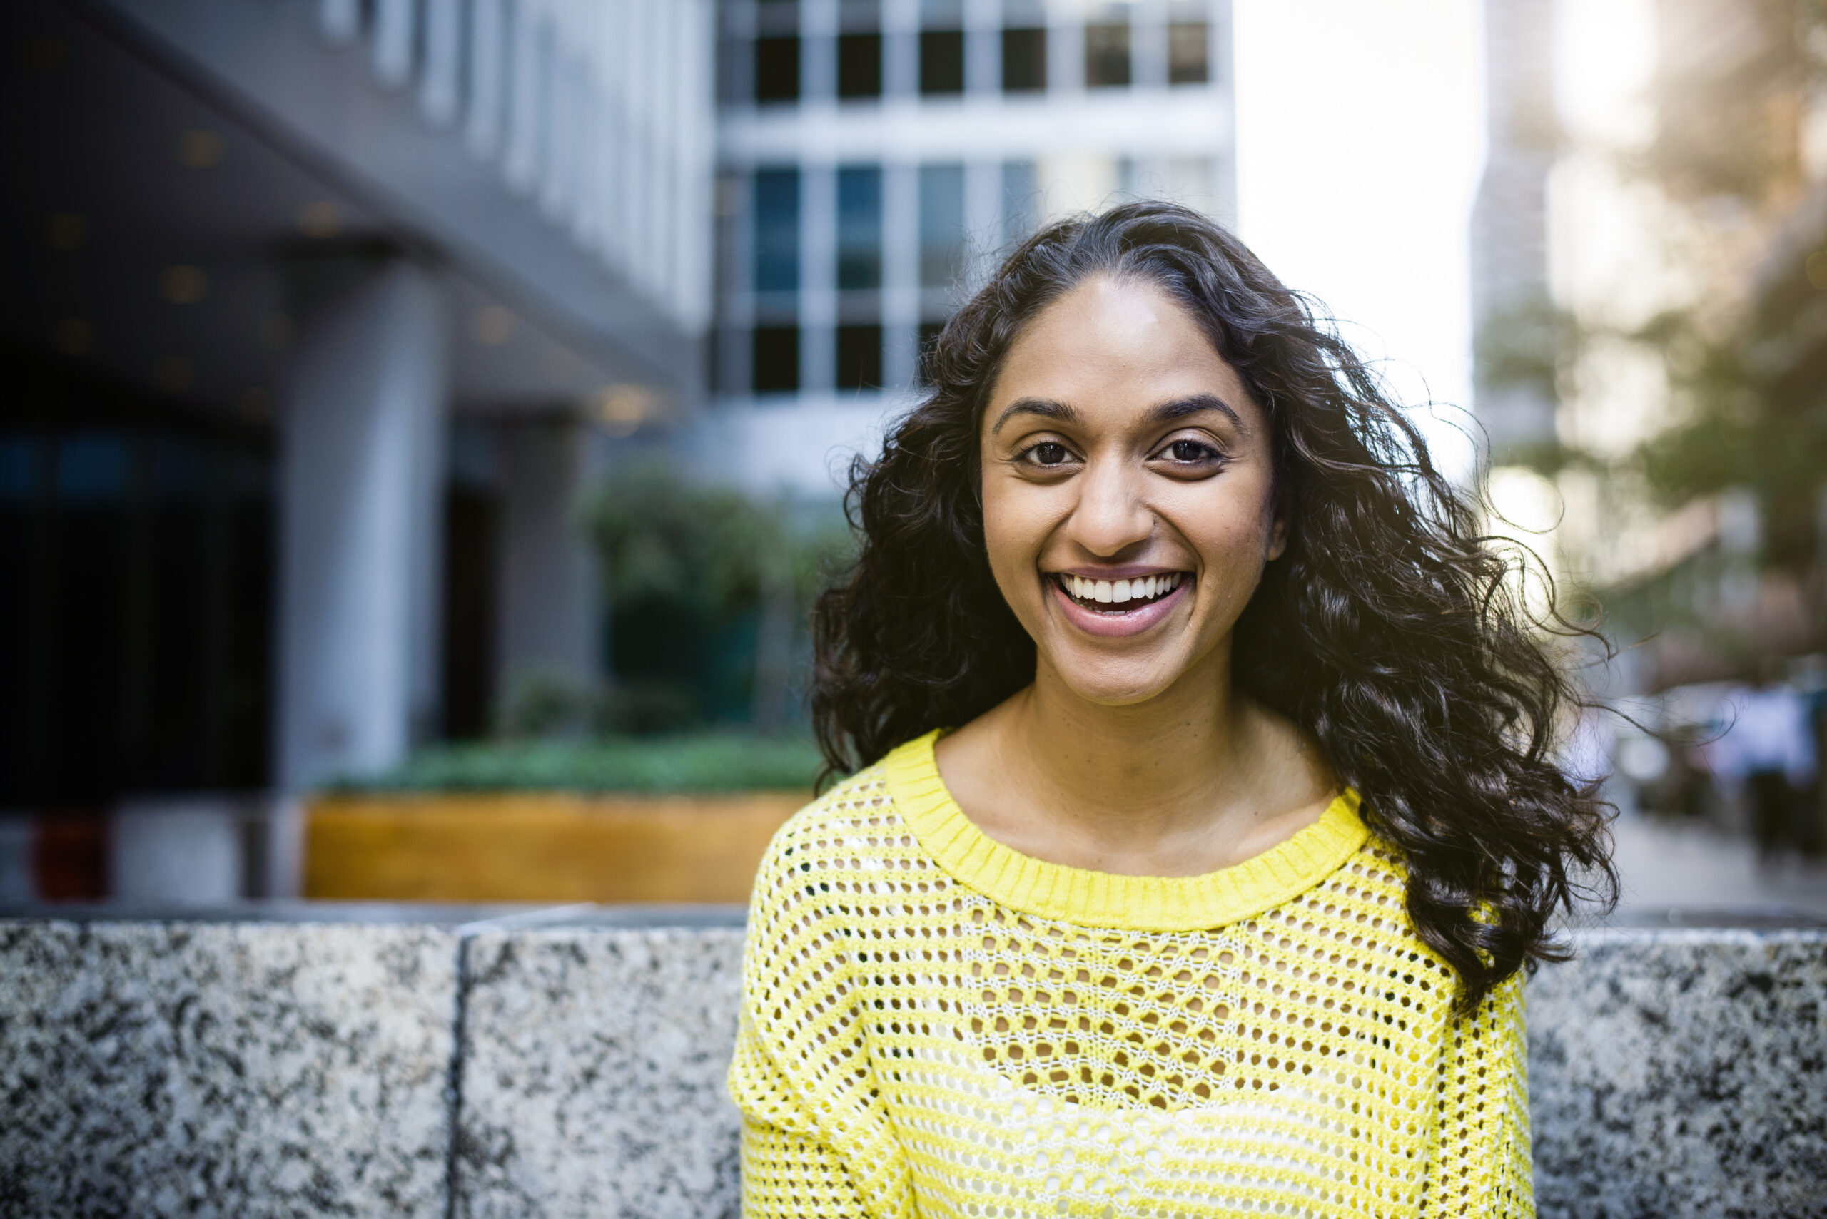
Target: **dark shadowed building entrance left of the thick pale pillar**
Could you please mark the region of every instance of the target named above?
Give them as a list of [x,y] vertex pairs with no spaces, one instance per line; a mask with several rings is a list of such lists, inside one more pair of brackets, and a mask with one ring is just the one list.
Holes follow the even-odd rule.
[[0,805],[263,787],[272,436],[0,352]]

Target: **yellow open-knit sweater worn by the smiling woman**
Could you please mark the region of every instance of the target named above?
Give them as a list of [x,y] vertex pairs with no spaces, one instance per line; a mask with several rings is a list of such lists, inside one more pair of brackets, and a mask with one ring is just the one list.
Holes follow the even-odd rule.
[[1341,796],[1237,867],[1085,872],[912,741],[755,883],[745,1215],[1533,1215],[1522,985],[1452,1015]]

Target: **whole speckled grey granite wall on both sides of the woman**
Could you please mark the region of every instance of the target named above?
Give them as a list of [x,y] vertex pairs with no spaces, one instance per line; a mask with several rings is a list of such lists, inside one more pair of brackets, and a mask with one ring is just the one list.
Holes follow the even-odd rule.
[[[1579,949],[1540,1214],[1827,1217],[1827,929]],[[738,973],[733,909],[0,920],[0,1215],[734,1215]]]

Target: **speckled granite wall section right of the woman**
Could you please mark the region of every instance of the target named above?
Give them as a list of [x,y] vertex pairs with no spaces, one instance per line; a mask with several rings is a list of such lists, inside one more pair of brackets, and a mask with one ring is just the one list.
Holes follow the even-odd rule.
[[1544,1219],[1827,1215],[1827,931],[1589,931],[1529,984]]

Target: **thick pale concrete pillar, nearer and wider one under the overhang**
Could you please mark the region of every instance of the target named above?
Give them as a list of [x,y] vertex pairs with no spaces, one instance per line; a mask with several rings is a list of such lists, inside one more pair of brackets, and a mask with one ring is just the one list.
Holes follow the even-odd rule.
[[384,770],[437,723],[444,308],[398,259],[300,343],[280,456],[283,790]]

